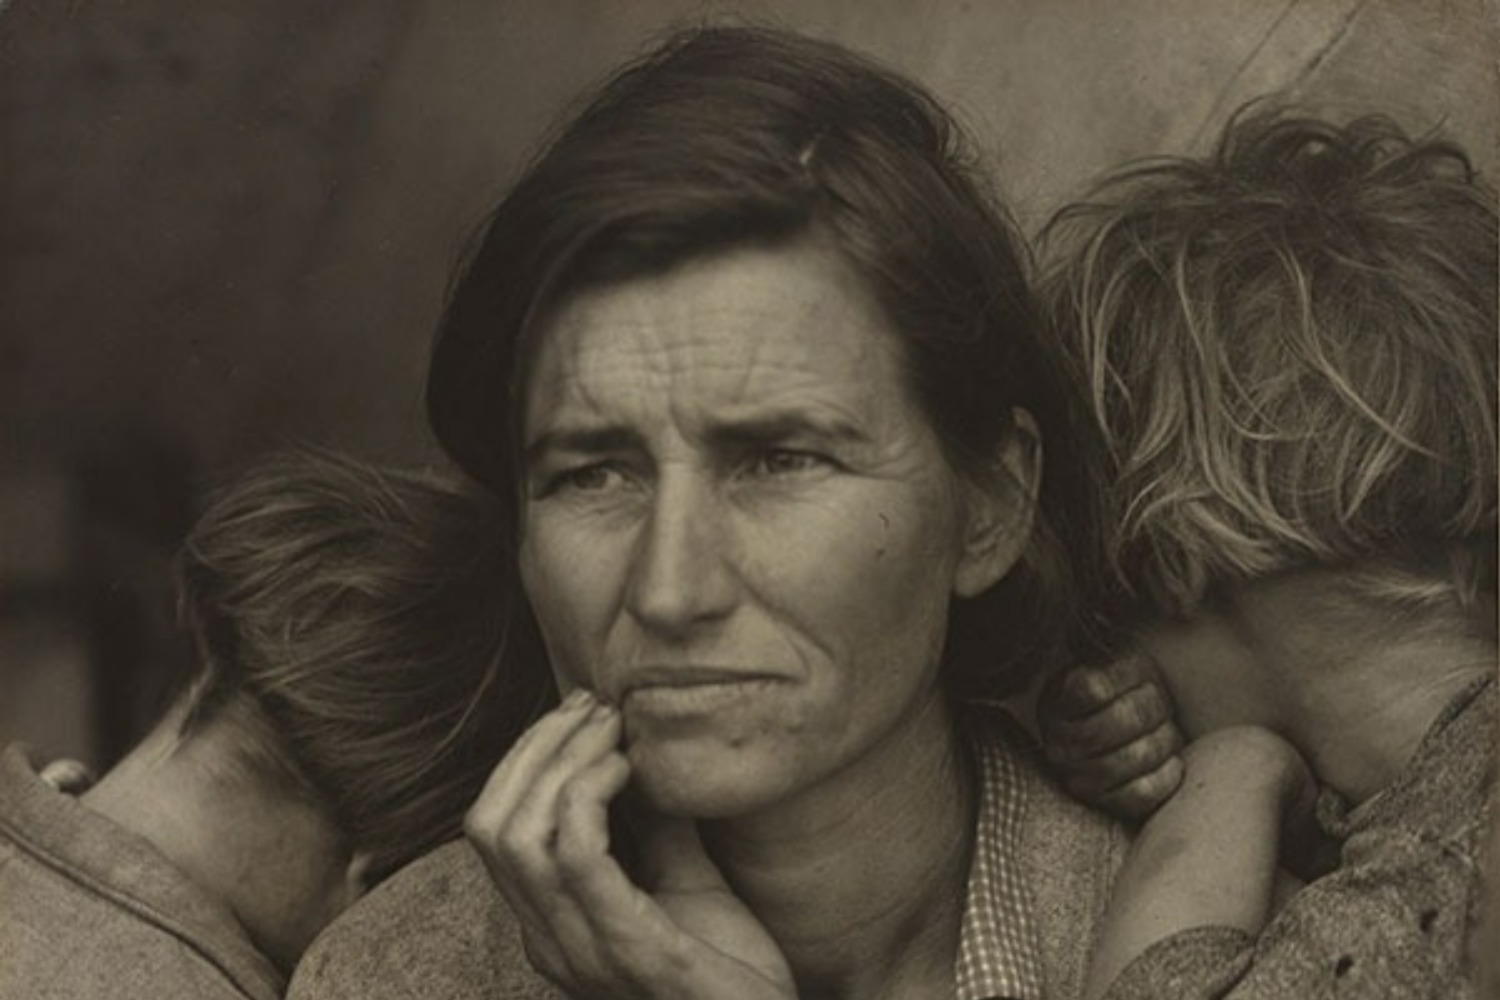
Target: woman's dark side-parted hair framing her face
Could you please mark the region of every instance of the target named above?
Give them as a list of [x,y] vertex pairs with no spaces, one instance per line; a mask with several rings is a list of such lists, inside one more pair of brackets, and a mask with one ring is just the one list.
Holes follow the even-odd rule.
[[948,114],[828,42],[700,28],[627,66],[566,124],[488,222],[438,330],[438,439],[507,505],[538,327],[578,291],[732,246],[816,235],[904,340],[912,388],[954,468],[996,475],[1028,409],[1047,445],[1023,564],[954,607],[950,693],[999,697],[1058,652],[1074,606],[1064,538],[1092,535],[1080,426],[1044,342],[1022,241]]

